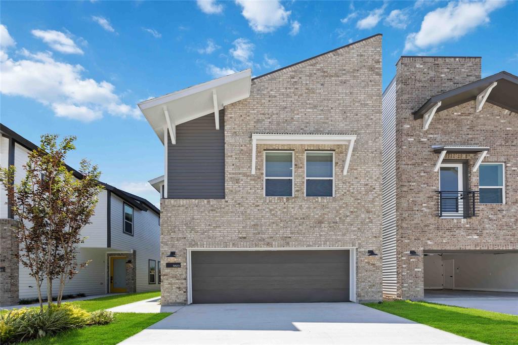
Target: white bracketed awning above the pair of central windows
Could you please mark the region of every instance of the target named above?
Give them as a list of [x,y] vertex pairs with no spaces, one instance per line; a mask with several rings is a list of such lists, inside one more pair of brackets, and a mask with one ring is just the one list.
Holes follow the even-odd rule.
[[350,133],[252,133],[252,174],[255,174],[256,146],[259,144],[293,144],[293,145],[348,145],[343,165],[343,175],[347,175],[356,134]]

